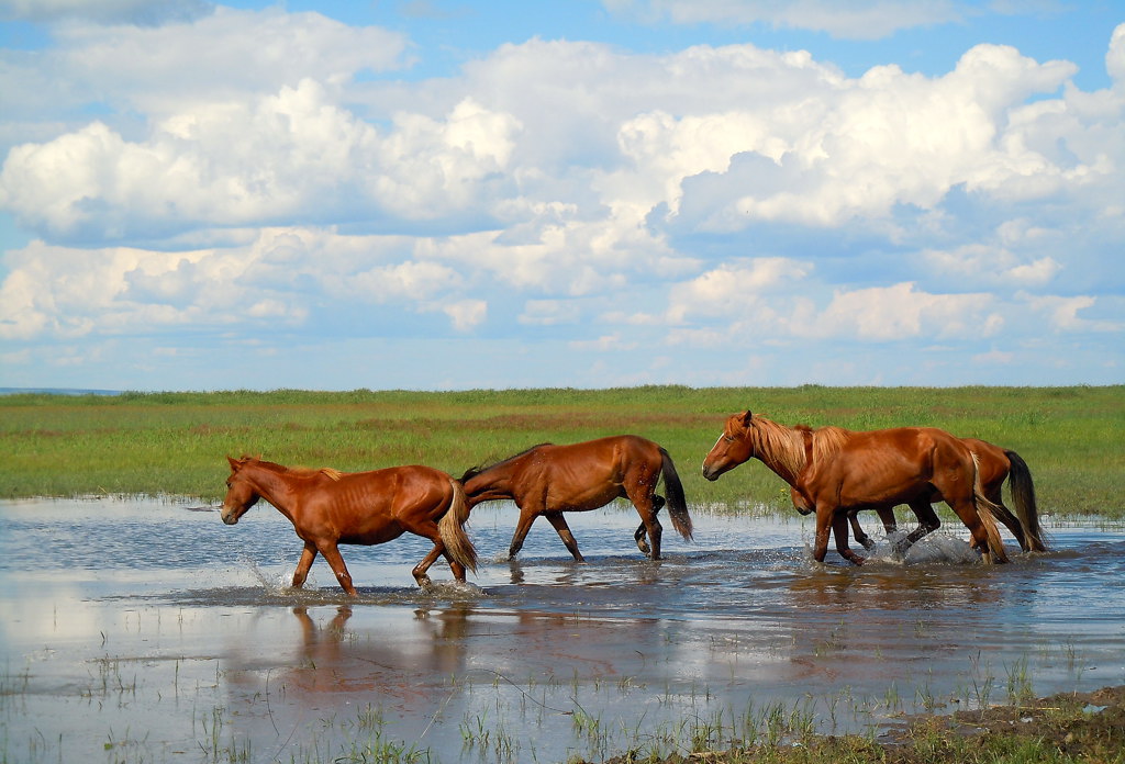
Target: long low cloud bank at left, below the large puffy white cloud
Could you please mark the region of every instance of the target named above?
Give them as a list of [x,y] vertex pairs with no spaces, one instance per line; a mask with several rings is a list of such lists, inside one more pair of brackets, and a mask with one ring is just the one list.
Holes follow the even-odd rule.
[[487,302],[460,298],[457,272],[400,260],[407,256],[396,237],[302,228],[266,229],[242,246],[177,253],[33,242],[7,254],[0,338],[296,328],[334,320],[341,310],[362,333],[359,317],[377,316],[381,306],[442,312],[459,331],[484,321]]

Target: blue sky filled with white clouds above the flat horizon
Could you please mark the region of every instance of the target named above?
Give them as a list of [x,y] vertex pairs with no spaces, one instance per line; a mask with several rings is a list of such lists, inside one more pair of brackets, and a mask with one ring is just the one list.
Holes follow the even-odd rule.
[[0,0],[0,388],[1125,382],[1125,6]]

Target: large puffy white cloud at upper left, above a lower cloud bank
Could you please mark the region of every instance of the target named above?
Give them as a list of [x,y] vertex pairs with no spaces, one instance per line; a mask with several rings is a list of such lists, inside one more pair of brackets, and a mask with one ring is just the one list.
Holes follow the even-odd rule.
[[143,142],[92,122],[17,146],[0,173],[0,208],[46,238],[86,242],[325,216],[479,215],[518,129],[466,99],[444,119],[402,115],[380,133],[304,80],[174,115]]

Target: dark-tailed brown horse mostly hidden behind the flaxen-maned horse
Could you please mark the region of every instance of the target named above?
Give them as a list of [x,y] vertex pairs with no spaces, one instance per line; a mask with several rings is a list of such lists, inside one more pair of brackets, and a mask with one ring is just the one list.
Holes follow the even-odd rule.
[[[1019,543],[1019,548],[1024,552],[1046,552],[1046,542],[1043,538],[1043,529],[1040,527],[1038,508],[1035,501],[1035,484],[1032,481],[1032,472],[1027,463],[1009,448],[1001,448],[987,440],[978,438],[961,438],[969,449],[976,454],[981,485],[984,495],[988,497],[996,509],[992,512],[997,520],[1000,520],[1011,535]],[[1004,503],[1001,488],[1008,481],[1011,491],[1011,500],[1016,507],[1016,515]],[[933,501],[940,501],[940,497],[933,497]],[[999,510],[999,512],[997,512]],[[852,525],[852,536],[857,544],[871,549],[874,542],[864,533],[856,517],[860,510],[848,512],[848,522]],[[897,522],[893,509],[879,509],[879,518],[883,522],[883,529],[888,534],[894,533]]]

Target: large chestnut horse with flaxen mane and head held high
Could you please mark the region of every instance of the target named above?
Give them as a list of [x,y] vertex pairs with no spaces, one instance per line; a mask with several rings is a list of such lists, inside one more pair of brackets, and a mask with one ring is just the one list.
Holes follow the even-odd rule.
[[912,544],[940,524],[930,503],[936,497],[965,524],[973,547],[986,562],[1007,562],[989,511],[991,501],[982,492],[976,456],[944,430],[813,430],[785,427],[744,411],[727,419],[722,435],[703,461],[703,476],[717,480],[752,457],[790,484],[798,511],[817,513],[813,557],[818,562],[825,558],[831,533],[837,552],[863,564],[864,558],[848,548],[847,516],[853,510],[909,504],[920,521],[907,539]]

